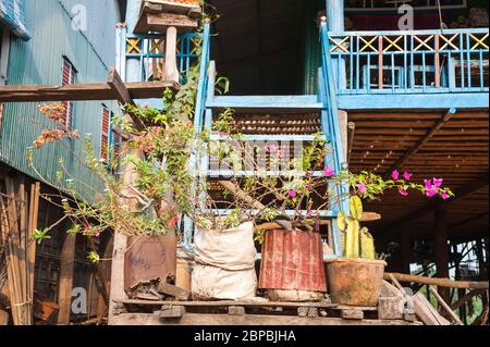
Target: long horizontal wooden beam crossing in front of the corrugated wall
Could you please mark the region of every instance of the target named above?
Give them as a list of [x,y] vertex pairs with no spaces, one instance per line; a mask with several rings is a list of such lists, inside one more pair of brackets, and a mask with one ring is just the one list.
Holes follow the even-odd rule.
[[[177,90],[171,80],[126,83],[133,99],[160,98],[166,88]],[[118,100],[107,83],[73,84],[66,86],[16,85],[0,87],[0,102]]]

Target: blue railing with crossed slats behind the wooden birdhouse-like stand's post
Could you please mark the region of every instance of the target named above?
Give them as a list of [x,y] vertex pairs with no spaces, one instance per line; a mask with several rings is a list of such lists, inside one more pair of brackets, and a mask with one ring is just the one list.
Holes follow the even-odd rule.
[[[163,34],[126,35],[124,55],[126,59],[139,60],[142,82],[159,80],[163,76],[166,62],[166,36]],[[186,82],[191,65],[197,60],[197,41],[195,33],[177,36],[176,62],[181,73],[181,84]]]

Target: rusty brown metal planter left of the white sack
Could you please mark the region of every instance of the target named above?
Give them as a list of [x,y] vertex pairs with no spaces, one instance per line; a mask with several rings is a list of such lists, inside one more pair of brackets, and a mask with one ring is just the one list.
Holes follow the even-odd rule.
[[131,236],[124,255],[124,288],[175,276],[176,236]]

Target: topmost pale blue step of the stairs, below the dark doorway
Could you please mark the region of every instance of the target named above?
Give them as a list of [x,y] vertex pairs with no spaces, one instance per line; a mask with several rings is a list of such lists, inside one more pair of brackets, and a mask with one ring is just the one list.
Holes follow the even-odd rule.
[[206,107],[232,109],[313,109],[321,110],[318,96],[217,96]]

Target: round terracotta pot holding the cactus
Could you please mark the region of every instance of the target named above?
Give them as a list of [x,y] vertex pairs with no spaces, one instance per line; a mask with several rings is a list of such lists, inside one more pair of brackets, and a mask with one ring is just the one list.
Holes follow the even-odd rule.
[[382,260],[329,260],[327,277],[332,302],[347,306],[378,306],[385,265]]

